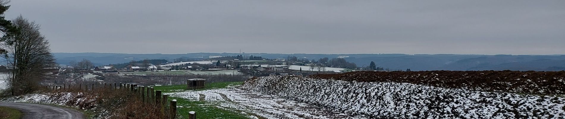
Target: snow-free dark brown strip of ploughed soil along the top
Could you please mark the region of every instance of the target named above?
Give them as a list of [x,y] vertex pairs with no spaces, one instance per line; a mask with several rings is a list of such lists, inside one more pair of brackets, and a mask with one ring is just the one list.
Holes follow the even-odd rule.
[[341,74],[316,74],[308,77],[357,82],[412,83],[416,85],[479,91],[502,91],[526,94],[565,94],[565,71],[363,71]]

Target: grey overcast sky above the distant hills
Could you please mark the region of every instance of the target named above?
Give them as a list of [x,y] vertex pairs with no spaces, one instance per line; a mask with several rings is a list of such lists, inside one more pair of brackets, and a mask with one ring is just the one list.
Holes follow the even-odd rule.
[[53,52],[565,54],[565,1],[12,0]]

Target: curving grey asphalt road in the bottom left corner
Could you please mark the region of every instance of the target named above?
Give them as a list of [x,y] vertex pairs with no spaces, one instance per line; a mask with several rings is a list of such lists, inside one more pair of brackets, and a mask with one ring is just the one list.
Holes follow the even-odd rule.
[[10,107],[20,110],[24,113],[23,118],[57,118],[57,119],[73,119],[84,118],[84,115],[73,109],[56,107],[44,104],[31,103],[0,103],[2,107]]

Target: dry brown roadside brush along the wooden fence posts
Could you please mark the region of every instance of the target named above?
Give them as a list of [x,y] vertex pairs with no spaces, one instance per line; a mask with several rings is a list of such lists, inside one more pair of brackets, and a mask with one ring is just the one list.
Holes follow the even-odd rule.
[[45,89],[44,94],[55,102],[62,101],[69,107],[88,110],[94,118],[167,118],[163,116],[168,111],[167,106],[160,109],[162,104],[156,104],[154,100],[144,102],[137,92],[103,87],[85,91],[84,85],[81,87]]

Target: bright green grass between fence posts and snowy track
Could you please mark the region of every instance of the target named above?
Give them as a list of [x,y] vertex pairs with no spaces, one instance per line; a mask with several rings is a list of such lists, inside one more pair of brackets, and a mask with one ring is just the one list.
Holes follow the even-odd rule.
[[[221,89],[227,86],[238,86],[243,82],[219,82],[210,83],[206,89],[198,90],[187,90],[186,85],[173,85],[173,86],[154,86],[154,90],[161,90],[163,93],[168,92],[183,92],[183,91],[199,91],[199,90],[210,90],[210,89]],[[176,99],[177,106],[182,106],[182,108],[177,108],[177,112],[184,118],[188,117],[188,112],[196,112],[197,118],[249,118],[245,114],[240,112],[234,112],[225,110],[223,108],[216,107],[216,103],[213,102],[199,102],[194,100],[182,99],[179,97],[171,96],[169,99]]]

